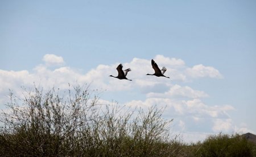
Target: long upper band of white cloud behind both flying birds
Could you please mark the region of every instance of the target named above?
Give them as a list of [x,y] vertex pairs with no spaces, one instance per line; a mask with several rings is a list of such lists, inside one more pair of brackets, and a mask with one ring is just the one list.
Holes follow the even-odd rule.
[[[191,76],[221,76],[216,69],[212,67],[204,67],[203,65],[196,65],[193,68],[186,69],[185,63],[181,59],[164,57],[163,55],[156,55],[154,59],[158,63],[159,67],[165,66],[168,68],[165,74],[170,76],[171,79],[147,76],[146,73],[154,73],[154,69],[152,69],[151,61],[146,59],[134,58],[130,63],[123,63],[124,69],[131,68],[131,72],[127,74],[127,78],[133,80],[133,82],[127,82],[126,80],[118,80],[109,77],[109,75],[118,75],[116,67],[119,63],[112,65],[101,64],[83,74],[77,69],[73,69],[71,67],[61,66],[59,68],[49,69],[49,65],[61,65],[64,64],[64,60],[61,56],[47,54],[43,57],[46,64],[38,65],[32,72],[1,70],[0,81],[3,86],[0,91],[8,88],[14,88],[14,86],[17,85],[32,85],[33,82],[40,82],[40,85],[42,86],[55,85],[63,87],[67,87],[68,82],[79,82],[80,84],[87,82],[92,84],[94,88],[107,89],[110,91],[139,88],[143,93],[150,93],[147,95],[148,97],[183,96],[189,98],[200,98],[207,97],[207,94],[203,91],[193,90],[189,86],[173,86],[171,82],[174,80],[185,81]],[[200,75],[197,73],[200,73]],[[168,88],[170,88],[169,91],[167,91]],[[160,94],[163,92],[165,93]]]

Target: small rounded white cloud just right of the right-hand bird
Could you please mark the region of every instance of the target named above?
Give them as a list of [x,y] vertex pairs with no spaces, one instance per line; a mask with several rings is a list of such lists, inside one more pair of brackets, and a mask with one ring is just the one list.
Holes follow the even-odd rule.
[[188,76],[191,76],[192,78],[197,77],[212,77],[221,79],[222,75],[220,72],[218,72],[217,69],[213,67],[205,67],[202,64],[194,65],[192,68],[187,68],[185,71]]

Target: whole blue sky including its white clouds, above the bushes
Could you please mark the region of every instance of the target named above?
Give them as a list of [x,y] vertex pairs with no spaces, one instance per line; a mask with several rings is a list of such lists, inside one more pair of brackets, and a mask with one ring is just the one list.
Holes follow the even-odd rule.
[[[1,1],[0,107],[32,82],[88,82],[102,101],[167,105],[191,141],[256,133],[255,15],[255,1]],[[146,76],[151,59],[170,80]],[[132,82],[108,77],[119,63]]]

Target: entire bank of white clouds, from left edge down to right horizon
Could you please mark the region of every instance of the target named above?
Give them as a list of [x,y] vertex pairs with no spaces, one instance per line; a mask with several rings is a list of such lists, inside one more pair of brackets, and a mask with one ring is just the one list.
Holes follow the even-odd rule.
[[[44,88],[55,86],[60,89],[68,89],[71,84],[90,84],[93,89],[104,89],[108,92],[119,93],[130,91],[142,94],[145,97],[141,100],[127,98],[125,105],[139,108],[147,108],[157,105],[159,108],[166,107],[165,118],[174,118],[176,125],[174,130],[185,133],[198,133],[204,130],[208,133],[218,131],[247,131],[246,125],[238,126],[229,116],[229,111],[234,110],[232,105],[205,104],[204,98],[209,97],[201,90],[193,89],[188,85],[181,85],[184,82],[193,82],[196,79],[222,79],[221,73],[209,66],[202,64],[187,67],[181,59],[170,58],[163,55],[156,55],[154,60],[159,68],[167,67],[166,76],[146,76],[146,73],[154,73],[151,60],[134,58],[130,63],[123,63],[123,69],[131,68],[127,78],[133,80],[118,80],[109,75],[117,76],[116,67],[119,63],[112,65],[100,64],[82,73],[78,69],[65,66],[63,57],[53,54],[44,55],[44,64],[39,64],[32,71],[4,71],[0,69],[0,103],[6,102],[9,89],[19,93],[20,86],[32,87],[36,85]],[[57,66],[57,67],[56,67]],[[173,84],[172,82],[177,82]],[[111,102],[111,100],[102,100]],[[1,105],[3,108],[3,105]],[[205,127],[205,128],[203,128]]]

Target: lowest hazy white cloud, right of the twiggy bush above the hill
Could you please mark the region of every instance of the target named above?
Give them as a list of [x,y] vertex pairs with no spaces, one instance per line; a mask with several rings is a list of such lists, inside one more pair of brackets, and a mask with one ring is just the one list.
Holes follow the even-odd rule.
[[163,113],[164,118],[172,119],[176,122],[173,131],[213,131],[218,133],[236,130],[228,111],[234,110],[230,105],[210,106],[202,102],[199,98],[184,101],[168,97],[150,97],[146,100],[133,100],[126,103],[132,108],[146,109],[149,106],[166,108]]

